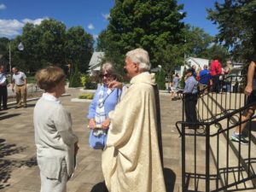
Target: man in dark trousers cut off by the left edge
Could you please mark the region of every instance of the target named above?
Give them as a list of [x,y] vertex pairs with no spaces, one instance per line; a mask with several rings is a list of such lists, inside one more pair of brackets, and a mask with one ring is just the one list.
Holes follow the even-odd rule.
[[7,110],[7,79],[4,72],[3,65],[0,65],[0,111],[3,101],[3,110]]

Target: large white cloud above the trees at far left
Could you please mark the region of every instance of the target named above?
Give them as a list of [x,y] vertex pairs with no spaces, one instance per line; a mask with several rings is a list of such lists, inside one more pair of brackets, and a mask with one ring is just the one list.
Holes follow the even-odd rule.
[[36,20],[24,19],[24,20],[1,20],[0,19],[0,38],[15,38],[15,36],[21,33],[22,27],[26,23],[30,22],[34,25],[39,25],[42,20],[47,20],[48,18],[39,18]]

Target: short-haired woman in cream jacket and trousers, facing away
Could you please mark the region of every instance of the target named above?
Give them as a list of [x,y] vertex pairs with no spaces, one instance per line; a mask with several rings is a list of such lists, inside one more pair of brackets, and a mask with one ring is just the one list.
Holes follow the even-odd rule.
[[45,90],[33,115],[41,192],[65,192],[79,149],[70,113],[59,100],[65,92],[65,74],[60,67],[47,67],[38,71],[36,79]]

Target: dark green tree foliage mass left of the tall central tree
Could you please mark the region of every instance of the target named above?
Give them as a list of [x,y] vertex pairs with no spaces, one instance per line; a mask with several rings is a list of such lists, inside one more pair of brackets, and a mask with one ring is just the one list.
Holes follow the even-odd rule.
[[[24,50],[17,45],[24,44]],[[23,33],[11,41],[13,65],[26,72],[36,72],[39,68],[58,65],[67,71],[67,64],[78,66],[86,72],[93,52],[92,35],[81,26],[66,29],[58,20],[43,20],[40,25],[27,23]]]

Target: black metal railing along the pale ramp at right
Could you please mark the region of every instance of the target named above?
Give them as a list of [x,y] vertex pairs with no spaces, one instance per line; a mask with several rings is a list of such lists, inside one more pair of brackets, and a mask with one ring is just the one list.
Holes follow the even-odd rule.
[[[256,103],[245,104],[244,77],[230,76],[219,86],[227,83],[233,87],[224,93],[212,93],[208,84],[201,86],[197,122],[185,121],[183,101],[183,119],[176,124],[181,136],[183,192],[256,189],[256,115],[241,121],[243,112]],[[243,123],[247,123],[247,145],[230,141]]]

